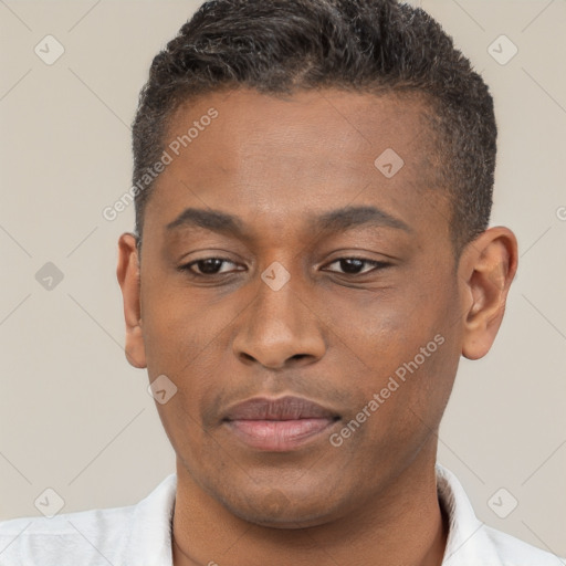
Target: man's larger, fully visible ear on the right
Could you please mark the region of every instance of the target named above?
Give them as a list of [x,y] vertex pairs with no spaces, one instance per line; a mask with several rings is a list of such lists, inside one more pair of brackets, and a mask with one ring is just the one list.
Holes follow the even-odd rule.
[[463,287],[464,357],[479,359],[490,350],[503,319],[517,261],[515,234],[504,227],[485,230],[462,252],[459,275]]

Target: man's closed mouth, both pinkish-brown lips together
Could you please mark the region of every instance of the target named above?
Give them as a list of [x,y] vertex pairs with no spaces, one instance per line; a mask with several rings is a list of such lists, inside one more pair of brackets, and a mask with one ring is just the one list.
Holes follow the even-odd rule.
[[321,440],[340,416],[301,397],[254,398],[230,409],[222,422],[250,448],[287,452]]

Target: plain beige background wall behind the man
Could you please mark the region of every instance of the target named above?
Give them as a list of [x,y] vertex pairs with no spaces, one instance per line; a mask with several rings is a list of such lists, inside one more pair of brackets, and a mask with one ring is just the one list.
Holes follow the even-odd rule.
[[[102,210],[130,186],[150,60],[199,3],[0,2],[0,518],[39,514],[48,486],[64,512],[130,504],[174,470],[123,353],[116,241],[134,210]],[[521,247],[493,350],[462,360],[439,460],[482,521],[566,556],[566,2],[420,3],[492,87],[492,224]],[[48,34],[65,50],[53,65],[34,53]],[[505,65],[488,52],[501,34],[518,48]],[[51,291],[35,280],[46,262],[64,275]],[[506,518],[488,505],[500,488],[518,501]]]

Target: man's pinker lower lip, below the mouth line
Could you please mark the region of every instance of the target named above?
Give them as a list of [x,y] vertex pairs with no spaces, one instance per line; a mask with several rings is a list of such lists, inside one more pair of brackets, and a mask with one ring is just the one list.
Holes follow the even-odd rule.
[[228,427],[249,447],[270,452],[286,452],[327,431],[336,420],[231,420]]

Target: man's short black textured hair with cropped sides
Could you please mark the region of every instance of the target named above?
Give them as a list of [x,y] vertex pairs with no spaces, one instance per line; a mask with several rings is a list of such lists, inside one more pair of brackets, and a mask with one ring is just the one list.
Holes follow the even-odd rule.
[[168,118],[191,97],[238,87],[423,96],[457,254],[488,228],[497,134],[493,98],[427,12],[397,0],[212,0],[155,56],[139,95],[133,124],[138,243],[154,185],[146,180],[139,190],[140,179],[153,179],[146,174],[163,155]]

